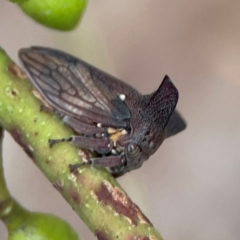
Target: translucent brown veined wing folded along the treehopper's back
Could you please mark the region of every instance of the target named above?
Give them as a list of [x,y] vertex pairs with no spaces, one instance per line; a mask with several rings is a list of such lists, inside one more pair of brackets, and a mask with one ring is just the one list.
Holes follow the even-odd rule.
[[40,47],[22,49],[19,57],[33,85],[60,113],[105,126],[129,125],[127,106],[115,89],[99,81],[91,65],[61,51]]

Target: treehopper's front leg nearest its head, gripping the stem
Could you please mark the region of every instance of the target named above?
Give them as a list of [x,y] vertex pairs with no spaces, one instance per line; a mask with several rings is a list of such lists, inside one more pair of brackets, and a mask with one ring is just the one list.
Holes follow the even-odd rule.
[[99,158],[91,158],[88,162],[82,162],[77,164],[70,164],[69,169],[73,172],[75,169],[84,166],[91,165],[93,167],[119,167],[123,166],[126,163],[126,159],[123,155],[118,156],[106,156]]

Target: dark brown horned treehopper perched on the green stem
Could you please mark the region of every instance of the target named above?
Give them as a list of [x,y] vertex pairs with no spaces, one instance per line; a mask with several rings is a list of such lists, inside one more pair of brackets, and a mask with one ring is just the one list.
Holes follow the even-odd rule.
[[186,125],[174,111],[178,91],[168,76],[149,95],[67,53],[42,47],[19,51],[34,87],[79,135],[51,139],[92,149],[99,157],[71,165],[107,167],[114,176],[139,168],[166,137]]

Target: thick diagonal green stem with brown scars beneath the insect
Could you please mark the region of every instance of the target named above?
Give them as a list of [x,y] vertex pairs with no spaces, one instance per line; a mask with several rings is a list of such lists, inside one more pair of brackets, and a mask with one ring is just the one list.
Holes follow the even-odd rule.
[[[68,165],[90,152],[69,143],[49,148],[49,138],[69,137],[72,130],[50,113],[21,69],[0,50],[0,124],[23,147],[53,186],[98,239],[159,239],[160,234],[105,169]],[[54,199],[53,199],[54,201]]]

